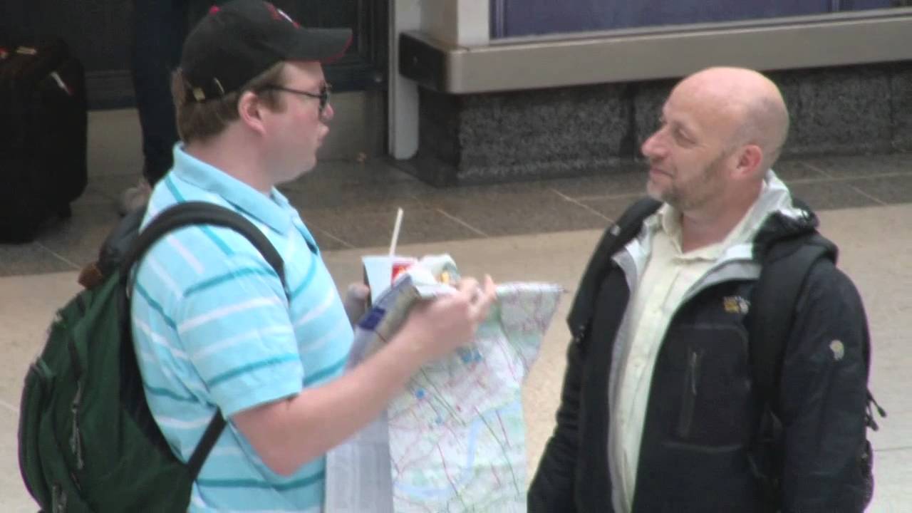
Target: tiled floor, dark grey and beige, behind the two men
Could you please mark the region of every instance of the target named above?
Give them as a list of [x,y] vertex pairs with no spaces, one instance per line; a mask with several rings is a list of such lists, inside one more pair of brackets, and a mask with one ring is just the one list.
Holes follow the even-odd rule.
[[[36,242],[0,245],[0,511],[33,511],[18,478],[16,420],[21,379],[53,311],[72,295],[75,271],[95,257],[117,221],[114,201],[134,183],[140,152],[135,114],[93,112],[88,189],[66,222]],[[876,445],[877,491],[870,511],[912,511],[912,155],[782,162],[782,177],[821,215],[842,249],[841,267],[865,298],[875,340],[872,387],[889,411]],[[609,219],[641,193],[637,170],[604,176],[434,189],[383,160],[322,162],[283,188],[301,209],[340,284],[358,279],[358,257],[389,244],[405,209],[400,253],[448,252],[469,274],[536,279],[568,289],[525,388],[534,466],[553,426],[564,369],[569,294]]]

